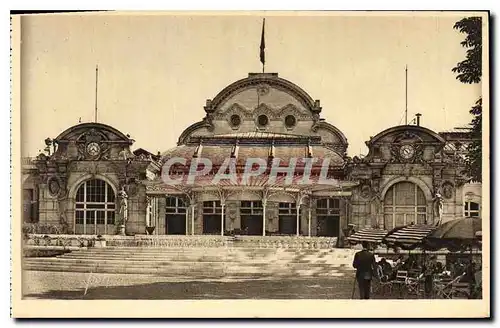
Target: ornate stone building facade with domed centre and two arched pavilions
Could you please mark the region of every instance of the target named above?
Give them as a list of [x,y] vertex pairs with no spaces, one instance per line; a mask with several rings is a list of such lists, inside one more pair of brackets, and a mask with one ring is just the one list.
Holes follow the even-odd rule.
[[[346,136],[321,118],[320,101],[275,73],[230,84],[204,111],[161,154],[132,151],[134,140],[101,123],[48,138],[44,153],[23,159],[24,222],[74,234],[338,237],[349,225],[390,229],[480,216],[480,188],[462,174],[466,133],[389,127],[369,138],[367,156],[350,158]],[[165,172],[173,158],[186,163]],[[189,164],[200,158],[211,170],[187,183]],[[267,167],[242,183],[252,158]],[[295,158],[314,162],[270,179],[273,161],[286,167]],[[236,179],[214,180],[227,159]],[[307,170],[310,183],[299,183]],[[181,183],[165,183],[166,174]]]

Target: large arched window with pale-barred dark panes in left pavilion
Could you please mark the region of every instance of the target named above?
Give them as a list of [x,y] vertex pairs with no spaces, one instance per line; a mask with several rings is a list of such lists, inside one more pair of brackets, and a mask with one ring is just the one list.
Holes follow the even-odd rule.
[[114,233],[115,207],[115,192],[106,181],[85,181],[76,192],[75,233]]

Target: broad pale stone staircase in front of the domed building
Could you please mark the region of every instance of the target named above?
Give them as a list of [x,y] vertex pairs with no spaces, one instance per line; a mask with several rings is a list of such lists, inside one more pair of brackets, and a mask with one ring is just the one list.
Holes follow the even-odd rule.
[[352,271],[351,249],[105,247],[32,257],[24,270],[134,273],[186,278],[331,277]]

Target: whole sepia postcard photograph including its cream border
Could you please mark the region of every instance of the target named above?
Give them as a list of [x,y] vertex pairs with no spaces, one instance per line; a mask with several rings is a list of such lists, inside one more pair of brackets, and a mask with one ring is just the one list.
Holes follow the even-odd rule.
[[489,19],[12,15],[13,316],[489,318]]

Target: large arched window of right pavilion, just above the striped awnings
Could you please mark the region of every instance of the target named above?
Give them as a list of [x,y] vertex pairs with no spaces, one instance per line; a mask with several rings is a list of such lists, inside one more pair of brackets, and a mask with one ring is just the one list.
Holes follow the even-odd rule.
[[411,223],[428,223],[427,201],[419,186],[411,182],[399,182],[389,188],[385,194],[385,229],[393,229]]

